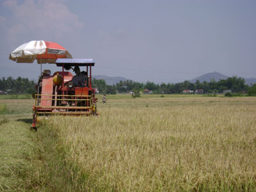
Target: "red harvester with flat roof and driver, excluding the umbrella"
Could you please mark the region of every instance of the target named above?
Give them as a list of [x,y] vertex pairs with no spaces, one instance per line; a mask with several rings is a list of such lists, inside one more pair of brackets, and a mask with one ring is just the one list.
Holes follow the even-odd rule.
[[[44,70],[38,79],[35,105],[33,106],[33,124],[39,116],[68,115],[93,116],[97,113],[97,98],[92,88],[92,59],[58,59],[56,65],[62,67],[51,76],[50,70]],[[81,71],[80,71],[81,68]],[[68,70],[76,71],[73,76]]]

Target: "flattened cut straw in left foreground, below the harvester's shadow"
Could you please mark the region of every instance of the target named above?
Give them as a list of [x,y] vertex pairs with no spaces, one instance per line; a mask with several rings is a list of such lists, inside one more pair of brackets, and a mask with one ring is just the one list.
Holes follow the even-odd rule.
[[36,145],[24,122],[1,120],[0,191],[23,191],[36,188]]

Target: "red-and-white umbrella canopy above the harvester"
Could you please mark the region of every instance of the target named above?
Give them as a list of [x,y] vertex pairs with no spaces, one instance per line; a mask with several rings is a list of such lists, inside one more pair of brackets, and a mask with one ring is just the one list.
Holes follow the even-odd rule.
[[31,41],[22,44],[9,56],[10,60],[17,63],[55,63],[58,58],[72,58],[67,49],[54,42]]

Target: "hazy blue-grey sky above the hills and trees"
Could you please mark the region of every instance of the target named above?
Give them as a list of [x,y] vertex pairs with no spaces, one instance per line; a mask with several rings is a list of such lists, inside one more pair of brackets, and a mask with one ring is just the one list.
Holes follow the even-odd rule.
[[0,77],[38,78],[36,61],[9,60],[31,40],[93,58],[92,76],[142,83],[178,83],[209,72],[256,77],[255,20],[255,0],[3,0]]

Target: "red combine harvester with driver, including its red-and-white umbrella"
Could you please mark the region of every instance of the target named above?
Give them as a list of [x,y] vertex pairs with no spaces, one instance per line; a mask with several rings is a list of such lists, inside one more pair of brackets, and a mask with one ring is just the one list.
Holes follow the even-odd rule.
[[[20,45],[11,52],[9,59],[17,63],[33,63],[37,60],[41,66],[33,106],[33,129],[36,129],[39,116],[98,115],[96,89],[92,88],[92,66],[95,65],[92,59],[72,59],[72,55],[60,44],[44,40],[33,40]],[[62,71],[51,76],[50,70],[42,72],[42,63],[56,63],[58,67],[62,67]],[[72,74],[64,71],[73,67],[86,67],[86,71],[81,72],[81,76],[74,77],[74,81]]]

